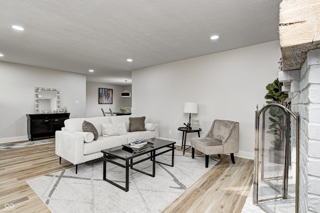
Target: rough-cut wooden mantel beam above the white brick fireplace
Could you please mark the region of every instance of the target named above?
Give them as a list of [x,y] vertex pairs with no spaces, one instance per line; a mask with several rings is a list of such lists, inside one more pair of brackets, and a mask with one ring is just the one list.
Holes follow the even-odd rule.
[[282,0],[279,9],[282,70],[299,69],[320,48],[320,0]]

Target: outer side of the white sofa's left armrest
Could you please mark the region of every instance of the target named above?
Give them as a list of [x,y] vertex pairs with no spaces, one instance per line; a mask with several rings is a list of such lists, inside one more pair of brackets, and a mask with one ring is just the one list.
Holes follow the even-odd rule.
[[84,162],[84,137],[70,131],[55,131],[55,154],[75,164]]

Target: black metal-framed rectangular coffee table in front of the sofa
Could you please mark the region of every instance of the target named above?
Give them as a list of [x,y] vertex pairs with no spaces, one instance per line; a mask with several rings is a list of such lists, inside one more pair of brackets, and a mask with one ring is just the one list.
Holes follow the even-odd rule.
[[[155,162],[162,163],[164,165],[169,165],[169,166],[173,167],[174,149],[175,149],[175,147],[174,147],[175,142],[174,141],[168,141],[168,140],[162,140],[162,139],[153,139],[153,140],[148,139],[146,141],[153,143],[152,147],[146,147],[144,149],[133,151],[132,149],[127,148],[125,146],[116,146],[113,148],[101,150],[101,152],[103,153],[103,157],[101,157],[101,159],[103,160],[103,180],[111,183],[112,185],[115,185],[118,188],[121,188],[124,191],[128,191],[129,190],[129,167],[133,170],[139,171],[143,174],[146,174],[146,175],[149,175],[152,177],[155,176]],[[156,150],[158,150],[160,148],[164,148],[164,147],[169,147],[169,148],[164,151],[161,151],[159,153],[155,152]],[[168,151],[172,151],[171,164],[167,164],[167,163],[159,162],[159,161],[155,160],[156,156],[163,154],[165,152],[168,152]],[[150,153],[150,156],[147,155],[147,153]],[[141,155],[143,157],[142,159],[139,158],[138,161],[133,162],[133,159],[135,157],[138,157]],[[114,161],[115,159],[113,160],[109,156],[113,157],[113,159],[115,158],[115,159],[124,160],[123,164]],[[143,162],[148,159],[150,159],[152,161],[152,174],[149,174],[149,173],[146,173],[146,172],[141,171],[139,169],[133,168],[133,165],[140,163],[140,162]],[[111,162],[115,165],[118,165],[122,168],[125,168],[125,187],[106,178],[106,162],[107,161]]]

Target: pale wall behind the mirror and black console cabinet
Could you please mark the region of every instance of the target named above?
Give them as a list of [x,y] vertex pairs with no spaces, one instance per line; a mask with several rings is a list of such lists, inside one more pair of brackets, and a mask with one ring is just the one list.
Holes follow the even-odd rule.
[[85,80],[83,74],[0,61],[0,142],[27,139],[25,114],[34,113],[36,86],[59,88],[70,117],[85,116]]

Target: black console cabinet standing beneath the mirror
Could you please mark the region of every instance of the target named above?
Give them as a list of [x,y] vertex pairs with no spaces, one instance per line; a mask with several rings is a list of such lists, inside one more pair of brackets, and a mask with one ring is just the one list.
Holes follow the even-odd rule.
[[27,117],[27,132],[30,140],[43,137],[54,137],[56,130],[61,130],[64,120],[70,113],[25,114]]

